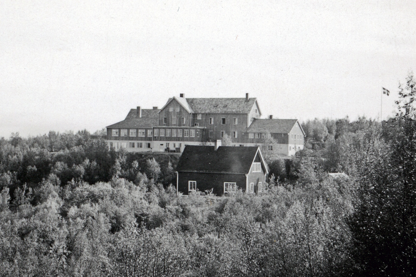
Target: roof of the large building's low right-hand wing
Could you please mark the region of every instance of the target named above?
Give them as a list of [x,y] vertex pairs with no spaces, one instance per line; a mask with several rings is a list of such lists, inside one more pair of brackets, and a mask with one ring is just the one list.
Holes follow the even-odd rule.
[[254,119],[247,133],[289,134],[296,123],[297,119]]

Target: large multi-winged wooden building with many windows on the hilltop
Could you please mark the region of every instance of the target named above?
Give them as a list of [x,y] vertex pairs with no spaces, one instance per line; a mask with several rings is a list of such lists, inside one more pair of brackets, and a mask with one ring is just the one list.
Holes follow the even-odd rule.
[[275,138],[273,151],[292,156],[303,149],[305,133],[297,119],[260,119],[256,98],[185,98],[173,96],[161,108],[131,109],[109,125],[110,148],[129,152],[183,152],[186,145],[213,146],[229,136],[232,146],[259,146],[265,134]]

